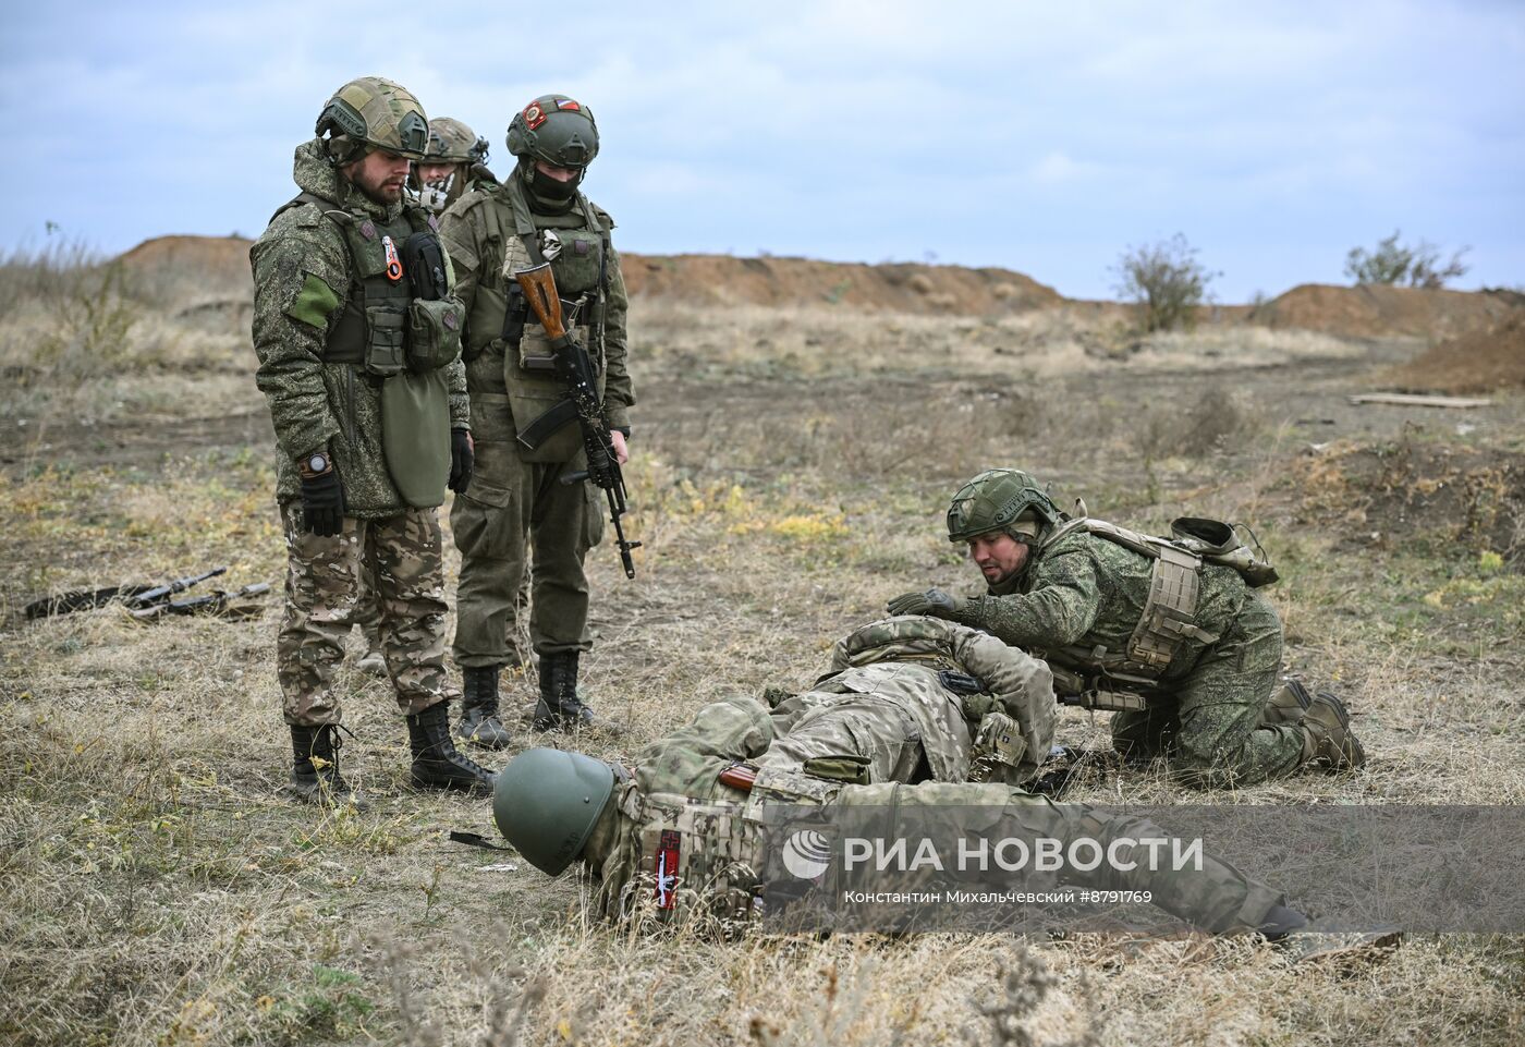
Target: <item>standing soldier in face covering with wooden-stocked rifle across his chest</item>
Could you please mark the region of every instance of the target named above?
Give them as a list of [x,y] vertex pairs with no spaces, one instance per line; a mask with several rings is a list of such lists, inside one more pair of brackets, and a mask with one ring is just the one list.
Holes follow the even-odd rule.
[[540,672],[534,726],[593,722],[576,685],[580,655],[590,647],[583,562],[604,527],[599,491],[560,482],[583,467],[576,423],[534,449],[517,440],[566,389],[514,272],[551,264],[557,292],[572,308],[567,325],[598,372],[621,464],[628,459],[634,401],[625,366],[625,281],[610,241],[615,223],[580,191],[598,154],[593,114],[564,95],[537,98],[509,124],[508,150],[518,157],[512,174],[502,185],[474,183],[441,218],[467,307],[464,357],[477,453],[471,490],[450,514],[461,549],[459,731],[494,748],[508,742],[497,716],[499,672],[522,665],[508,636],[531,557],[529,638]]

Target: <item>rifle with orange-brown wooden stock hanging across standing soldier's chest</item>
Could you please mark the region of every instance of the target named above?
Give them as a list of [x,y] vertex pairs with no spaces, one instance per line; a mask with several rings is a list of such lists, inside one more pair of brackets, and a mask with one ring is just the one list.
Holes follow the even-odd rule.
[[625,577],[636,577],[636,565],[630,559],[631,549],[639,549],[640,542],[625,539],[625,528],[621,525],[628,510],[625,505],[625,476],[619,472],[619,458],[615,456],[615,444],[608,437],[608,418],[604,415],[604,404],[598,398],[598,383],[593,377],[593,362],[587,357],[587,350],[566,328],[563,319],[563,302],[557,295],[557,278],[551,272],[551,263],[541,263],[531,269],[518,269],[514,279],[525,288],[525,299],[534,310],[535,319],[546,328],[551,340],[557,375],[566,383],[567,398],[546,411],[518,430],[518,443],[529,450],[543,444],[551,433],[561,429],[573,418],[583,429],[583,450],[587,455],[587,469],[567,473],[563,484],[590,481],[604,491],[608,499],[608,520],[615,525],[615,537],[619,540],[619,560],[625,565]]

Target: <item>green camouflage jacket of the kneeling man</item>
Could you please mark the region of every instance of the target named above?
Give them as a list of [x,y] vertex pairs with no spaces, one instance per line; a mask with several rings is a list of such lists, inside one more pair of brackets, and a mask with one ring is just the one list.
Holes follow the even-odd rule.
[[[1042,652],[1096,647],[1124,653],[1148,601],[1154,562],[1109,539],[1071,531],[1039,546],[1016,578],[964,600],[955,620],[996,638]],[[1249,589],[1234,568],[1203,565],[1196,624],[1222,633],[1240,614]],[[1208,644],[1185,639],[1161,679],[1191,672]]]

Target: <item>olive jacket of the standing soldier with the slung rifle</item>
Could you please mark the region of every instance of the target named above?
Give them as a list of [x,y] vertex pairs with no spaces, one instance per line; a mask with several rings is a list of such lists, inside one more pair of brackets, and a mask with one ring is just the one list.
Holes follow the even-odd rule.
[[[512,177],[509,174],[509,179]],[[580,200],[592,209],[605,230],[615,227],[615,220],[608,217],[607,211],[587,203],[586,197],[580,197]],[[537,224],[543,221],[576,224],[575,214],[557,218],[532,217]],[[502,272],[508,252],[503,238],[515,235],[508,186],[485,179],[474,180],[465,195],[441,215],[439,232],[450,252],[450,259],[454,263],[456,298],[465,305],[468,317],[462,340],[467,346],[467,385],[471,391],[473,408],[477,414],[483,411],[502,414],[503,418],[499,423],[506,424],[508,433],[512,433],[515,420],[509,417],[508,406],[502,400],[506,392],[502,346],[494,346],[491,351],[482,350],[502,333],[491,328],[502,325],[508,298],[506,278]],[[625,293],[625,276],[619,267],[619,252],[610,246],[608,299],[604,310],[602,395],[608,424],[625,430],[630,429],[630,408],[636,401],[627,365],[625,317],[628,308],[630,298]],[[483,324],[483,317],[491,317],[491,322]],[[517,421],[523,424],[532,420],[520,418]],[[493,437],[483,433],[483,438]],[[508,438],[512,437],[508,435]]]

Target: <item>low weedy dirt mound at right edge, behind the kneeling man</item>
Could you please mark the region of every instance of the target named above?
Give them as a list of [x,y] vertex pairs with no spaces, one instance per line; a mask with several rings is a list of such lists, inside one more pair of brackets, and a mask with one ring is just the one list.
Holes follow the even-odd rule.
[[1498,552],[1525,566],[1525,453],[1409,438],[1334,446],[1293,472],[1299,519],[1345,545],[1447,546]]

